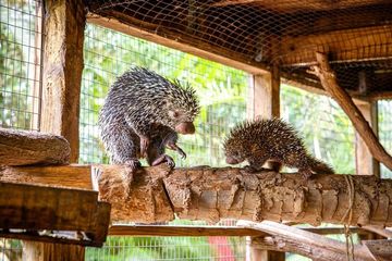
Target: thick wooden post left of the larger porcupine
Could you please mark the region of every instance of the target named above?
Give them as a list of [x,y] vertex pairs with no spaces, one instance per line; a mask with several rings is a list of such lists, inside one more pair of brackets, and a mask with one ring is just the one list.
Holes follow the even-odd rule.
[[[64,136],[78,159],[79,94],[86,10],[78,0],[45,0],[40,130]],[[24,260],[84,260],[81,246],[24,241]]]

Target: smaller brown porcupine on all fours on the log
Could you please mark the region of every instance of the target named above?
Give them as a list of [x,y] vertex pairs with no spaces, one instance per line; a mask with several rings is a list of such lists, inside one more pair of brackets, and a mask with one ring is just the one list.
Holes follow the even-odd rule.
[[[326,163],[310,156],[293,127],[280,119],[246,121],[236,125],[224,141],[228,164],[245,160],[249,172],[262,170],[266,162],[296,167],[308,178],[313,173],[334,173]],[[277,167],[278,166],[278,167]]]

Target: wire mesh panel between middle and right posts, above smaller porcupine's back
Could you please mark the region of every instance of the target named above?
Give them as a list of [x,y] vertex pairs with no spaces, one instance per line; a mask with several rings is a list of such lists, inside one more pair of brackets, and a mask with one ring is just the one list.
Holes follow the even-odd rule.
[[355,173],[354,128],[334,100],[282,85],[281,115],[298,130],[316,158],[336,173]]

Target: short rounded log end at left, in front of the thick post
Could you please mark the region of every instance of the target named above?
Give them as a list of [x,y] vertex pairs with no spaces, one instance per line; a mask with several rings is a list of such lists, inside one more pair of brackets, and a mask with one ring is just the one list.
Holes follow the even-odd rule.
[[61,136],[0,127],[0,165],[68,164],[70,151]]

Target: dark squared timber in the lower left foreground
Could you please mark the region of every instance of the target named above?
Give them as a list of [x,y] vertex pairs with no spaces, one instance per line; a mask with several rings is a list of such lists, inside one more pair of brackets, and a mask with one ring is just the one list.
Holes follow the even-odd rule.
[[0,195],[7,195],[0,197],[3,229],[81,231],[91,236],[91,245],[106,239],[110,204],[97,202],[96,191],[0,182]]

